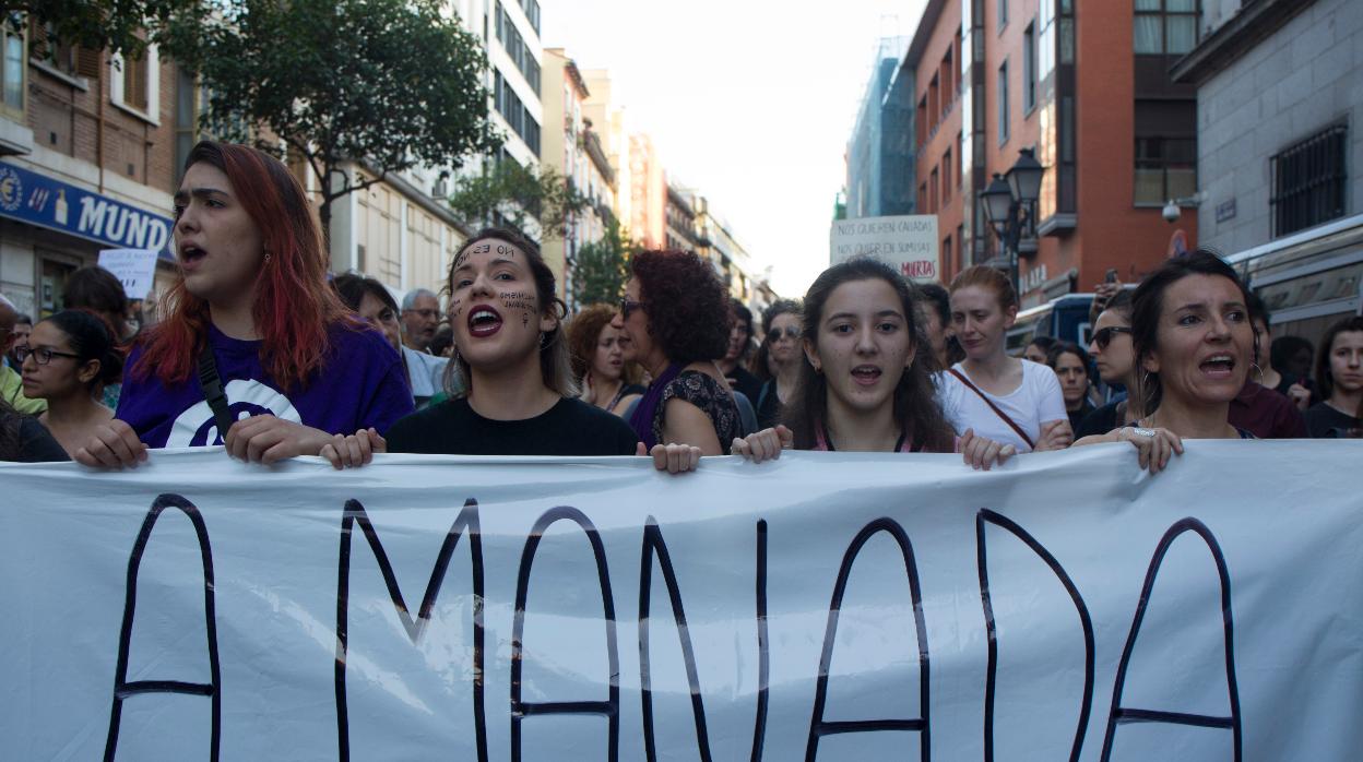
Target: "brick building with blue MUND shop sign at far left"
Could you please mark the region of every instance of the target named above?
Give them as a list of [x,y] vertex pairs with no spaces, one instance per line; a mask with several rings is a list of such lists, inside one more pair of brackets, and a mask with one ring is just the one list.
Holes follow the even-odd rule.
[[[155,46],[123,60],[34,45],[45,30],[0,25],[0,293],[34,318],[61,309],[67,275],[110,248],[155,249],[173,273],[172,195],[189,146],[176,67]],[[40,55],[41,50],[41,55]]]

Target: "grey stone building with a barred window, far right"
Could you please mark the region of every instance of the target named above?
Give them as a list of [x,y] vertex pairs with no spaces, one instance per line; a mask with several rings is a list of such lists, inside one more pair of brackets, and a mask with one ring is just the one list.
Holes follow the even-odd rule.
[[1363,14],[1351,0],[1212,0],[1174,76],[1197,87],[1202,243],[1274,337],[1363,314]]

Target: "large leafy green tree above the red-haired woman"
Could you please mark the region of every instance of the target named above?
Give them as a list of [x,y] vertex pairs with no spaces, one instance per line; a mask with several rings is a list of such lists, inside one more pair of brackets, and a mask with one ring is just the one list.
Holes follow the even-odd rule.
[[213,22],[173,25],[168,40],[209,94],[204,127],[305,161],[323,229],[337,199],[390,173],[500,147],[483,45],[440,0],[215,3]]

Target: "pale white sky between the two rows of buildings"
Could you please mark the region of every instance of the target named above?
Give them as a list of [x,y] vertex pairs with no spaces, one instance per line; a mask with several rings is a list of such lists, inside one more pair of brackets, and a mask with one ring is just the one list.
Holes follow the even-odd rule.
[[876,41],[923,0],[541,0],[545,48],[611,70],[668,176],[706,195],[773,286],[801,296],[829,222]]

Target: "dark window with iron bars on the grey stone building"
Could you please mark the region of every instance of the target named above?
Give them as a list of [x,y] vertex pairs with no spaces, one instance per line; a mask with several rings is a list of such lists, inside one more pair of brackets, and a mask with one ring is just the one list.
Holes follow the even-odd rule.
[[1348,127],[1337,124],[1269,159],[1273,236],[1344,217]]

